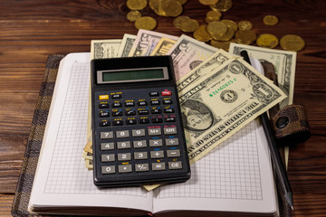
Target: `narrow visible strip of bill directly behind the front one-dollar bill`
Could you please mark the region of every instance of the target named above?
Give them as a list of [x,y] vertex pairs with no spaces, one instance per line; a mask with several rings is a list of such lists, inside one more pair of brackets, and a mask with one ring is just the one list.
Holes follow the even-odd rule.
[[203,76],[208,76],[210,73],[216,70],[225,61],[233,58],[231,54],[220,49],[212,56],[203,61],[195,69],[189,71],[182,79],[177,80],[177,91],[185,90],[187,87],[191,87],[191,84],[200,80]]

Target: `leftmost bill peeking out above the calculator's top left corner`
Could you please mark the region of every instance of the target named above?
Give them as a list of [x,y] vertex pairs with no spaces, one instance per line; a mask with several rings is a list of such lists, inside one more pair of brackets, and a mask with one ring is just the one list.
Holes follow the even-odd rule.
[[91,60],[117,57],[121,39],[91,40]]

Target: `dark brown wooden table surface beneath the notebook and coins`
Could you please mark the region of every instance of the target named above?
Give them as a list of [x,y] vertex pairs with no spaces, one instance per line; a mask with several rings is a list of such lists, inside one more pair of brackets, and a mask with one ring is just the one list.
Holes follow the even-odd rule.
[[[326,216],[326,1],[236,1],[224,19],[248,20],[256,33],[279,39],[298,34],[306,42],[297,53],[294,103],[308,112],[312,137],[290,150],[288,175],[294,193],[294,216]],[[208,6],[188,0],[184,14],[204,24]],[[127,21],[123,0],[0,1],[0,215],[10,216],[34,108],[49,54],[90,52],[92,39],[120,39],[138,30]],[[149,7],[157,32],[182,34],[173,18]],[[264,25],[264,15],[280,23]],[[277,47],[281,49],[281,47]]]

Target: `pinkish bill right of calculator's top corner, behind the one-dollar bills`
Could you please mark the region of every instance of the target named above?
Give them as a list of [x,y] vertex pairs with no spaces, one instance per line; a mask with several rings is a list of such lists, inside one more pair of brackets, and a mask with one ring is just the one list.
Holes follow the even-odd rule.
[[217,51],[217,48],[204,42],[199,42],[185,34],[181,35],[167,52],[173,60],[176,80],[180,80],[187,72],[194,70],[197,65]]

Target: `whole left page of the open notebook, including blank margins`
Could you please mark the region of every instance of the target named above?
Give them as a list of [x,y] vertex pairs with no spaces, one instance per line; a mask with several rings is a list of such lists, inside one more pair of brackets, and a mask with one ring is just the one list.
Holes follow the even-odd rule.
[[99,190],[85,168],[90,71],[90,53],[72,53],[60,63],[29,206],[151,211],[152,193],[141,187]]

